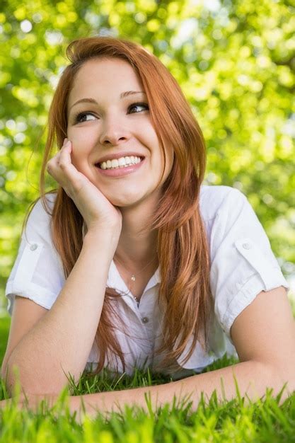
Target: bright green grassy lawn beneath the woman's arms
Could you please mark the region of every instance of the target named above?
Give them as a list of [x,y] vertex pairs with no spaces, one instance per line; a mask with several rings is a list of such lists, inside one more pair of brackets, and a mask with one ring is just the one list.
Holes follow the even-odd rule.
[[[294,308],[293,302],[292,306]],[[10,319],[3,321],[1,318],[0,323],[2,361]],[[204,372],[236,362],[238,360],[225,355]],[[78,386],[71,386],[70,395],[130,389],[169,381],[169,376],[140,370],[133,376],[123,375],[112,379],[104,370],[91,379],[81,376]],[[218,402],[213,393],[209,401],[199,403],[195,412],[190,410],[189,402],[166,405],[156,414],[153,410],[146,414],[139,409],[125,408],[122,414],[113,413],[108,420],[97,415],[95,420],[86,419],[79,424],[75,413],[70,413],[64,404],[67,395],[64,392],[53,408],[40,405],[38,413],[25,409],[17,412],[13,407],[0,410],[0,443],[295,442],[295,393],[280,406],[279,398],[272,398],[268,390],[266,394],[263,401],[245,405],[241,397],[230,402]],[[1,380],[0,400],[4,397],[4,382]]]

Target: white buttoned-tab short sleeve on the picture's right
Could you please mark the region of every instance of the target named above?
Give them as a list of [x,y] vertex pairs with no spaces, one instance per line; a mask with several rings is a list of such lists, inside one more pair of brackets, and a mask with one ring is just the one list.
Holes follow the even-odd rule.
[[247,197],[235,188],[230,188],[214,217],[210,254],[214,311],[233,343],[233,321],[261,291],[279,286],[289,290],[262,224]]

